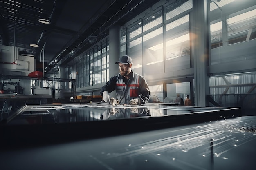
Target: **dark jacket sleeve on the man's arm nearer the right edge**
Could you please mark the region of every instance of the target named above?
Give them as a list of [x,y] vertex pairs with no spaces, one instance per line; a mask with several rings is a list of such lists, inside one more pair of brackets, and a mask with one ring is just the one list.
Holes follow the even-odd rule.
[[151,92],[148,88],[148,83],[146,82],[146,79],[141,76],[139,77],[139,99],[141,104],[145,104],[150,99]]

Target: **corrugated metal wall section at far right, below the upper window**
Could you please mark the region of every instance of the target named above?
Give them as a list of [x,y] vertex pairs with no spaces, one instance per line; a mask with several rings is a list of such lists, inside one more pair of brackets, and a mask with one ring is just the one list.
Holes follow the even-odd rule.
[[256,73],[210,77],[211,98],[223,107],[256,108]]

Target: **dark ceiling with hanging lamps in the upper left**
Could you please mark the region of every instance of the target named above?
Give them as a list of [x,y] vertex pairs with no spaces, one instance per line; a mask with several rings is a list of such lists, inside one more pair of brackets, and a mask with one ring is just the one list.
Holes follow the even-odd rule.
[[[15,44],[20,53],[33,54],[37,61],[44,56],[50,73],[92,46],[90,38],[101,40],[111,25],[128,22],[158,1],[0,0],[0,44]],[[51,24],[38,22],[43,15]],[[39,47],[29,46],[31,42]]]

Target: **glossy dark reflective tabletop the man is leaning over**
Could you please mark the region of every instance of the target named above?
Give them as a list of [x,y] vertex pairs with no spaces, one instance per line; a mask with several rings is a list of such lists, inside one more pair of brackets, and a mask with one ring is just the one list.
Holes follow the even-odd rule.
[[[168,116],[187,116],[187,120],[192,119],[193,115],[218,117],[227,119],[239,116],[240,108],[210,108],[210,107],[189,107],[173,106],[168,104],[144,104],[140,106],[132,105],[112,105],[106,103],[88,104],[63,104],[63,105],[25,105],[13,115],[7,117],[8,124],[24,124],[22,119],[27,119],[27,115],[43,115],[41,123],[69,123],[85,121],[103,121],[109,119],[135,119],[146,117],[168,117]],[[216,114],[218,113],[218,114]],[[228,113],[228,114],[225,114]],[[222,115],[224,114],[224,115]],[[197,118],[195,118],[197,119]],[[37,121],[33,121],[37,122]]]

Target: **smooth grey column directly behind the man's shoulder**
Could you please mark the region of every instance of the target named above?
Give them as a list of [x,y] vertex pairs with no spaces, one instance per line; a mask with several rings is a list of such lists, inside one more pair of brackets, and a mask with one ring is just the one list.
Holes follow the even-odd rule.
[[[120,57],[120,26],[113,25],[109,29],[109,78],[119,73],[119,67],[115,62]],[[110,93],[111,97],[117,97],[115,91]]]

